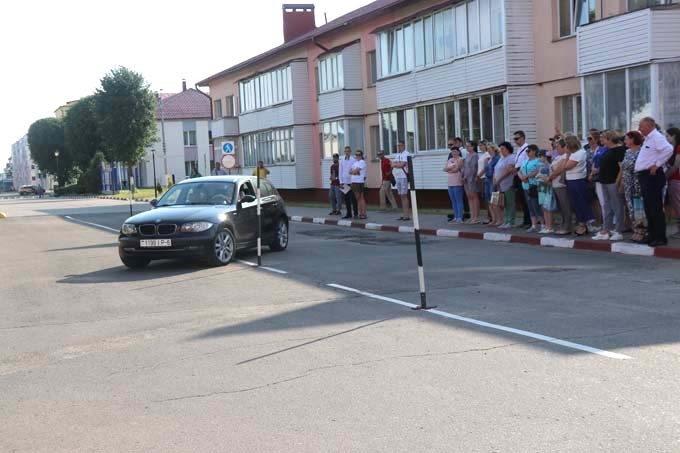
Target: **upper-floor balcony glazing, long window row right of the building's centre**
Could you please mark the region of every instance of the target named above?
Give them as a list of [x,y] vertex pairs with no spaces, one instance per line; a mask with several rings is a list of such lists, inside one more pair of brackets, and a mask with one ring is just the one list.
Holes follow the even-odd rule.
[[468,0],[383,31],[378,35],[380,76],[501,45],[503,22],[503,0]]

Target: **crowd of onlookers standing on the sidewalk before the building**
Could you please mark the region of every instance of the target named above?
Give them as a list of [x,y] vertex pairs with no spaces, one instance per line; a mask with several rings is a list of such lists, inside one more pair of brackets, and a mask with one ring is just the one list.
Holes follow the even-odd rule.
[[[650,246],[666,245],[668,209],[680,218],[680,129],[664,134],[653,118],[638,130],[590,130],[585,146],[573,134],[550,138],[550,149],[527,143],[523,131],[513,134],[514,145],[485,141],[448,141],[450,154],[443,167],[454,223],[486,224],[500,229],[524,227],[538,234],[594,234],[598,241],[632,240]],[[398,209],[410,220],[408,156],[399,142],[393,158],[379,152],[382,182],[380,207]],[[345,148],[333,156],[330,171],[332,215],[366,218],[366,162],[363,152]],[[482,202],[488,218],[481,218]],[[517,223],[517,207],[524,221]],[[469,218],[464,220],[466,209]],[[673,237],[680,238],[680,226]]]

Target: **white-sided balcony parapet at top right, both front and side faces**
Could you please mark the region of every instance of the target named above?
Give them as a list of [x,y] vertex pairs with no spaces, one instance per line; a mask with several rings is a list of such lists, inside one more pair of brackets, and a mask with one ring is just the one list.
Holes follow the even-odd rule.
[[680,57],[680,8],[647,8],[578,28],[578,72]]

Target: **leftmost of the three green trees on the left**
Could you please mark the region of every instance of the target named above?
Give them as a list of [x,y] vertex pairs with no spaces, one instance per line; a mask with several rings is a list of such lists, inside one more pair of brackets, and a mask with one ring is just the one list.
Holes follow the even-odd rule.
[[[28,146],[31,159],[44,172],[57,176],[59,186],[76,173],[73,156],[64,146],[64,123],[56,118],[43,118],[28,128]],[[59,151],[59,158],[55,157]]]

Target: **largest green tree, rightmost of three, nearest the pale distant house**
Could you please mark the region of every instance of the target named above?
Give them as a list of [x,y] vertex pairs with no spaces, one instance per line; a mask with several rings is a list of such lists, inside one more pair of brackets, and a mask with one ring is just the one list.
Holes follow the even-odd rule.
[[101,80],[95,93],[95,116],[104,155],[111,162],[132,166],[156,136],[156,98],[141,74],[121,67]]

